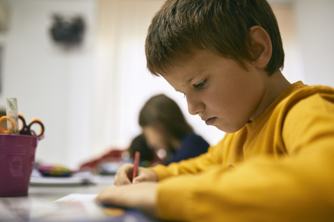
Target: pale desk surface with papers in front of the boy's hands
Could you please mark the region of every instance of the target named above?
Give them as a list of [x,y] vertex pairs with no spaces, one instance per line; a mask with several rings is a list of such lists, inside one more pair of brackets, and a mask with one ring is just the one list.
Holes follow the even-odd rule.
[[54,203],[68,194],[98,194],[111,184],[112,178],[95,185],[30,186],[28,196],[0,197],[0,221],[155,221],[136,210],[106,209],[94,202]]

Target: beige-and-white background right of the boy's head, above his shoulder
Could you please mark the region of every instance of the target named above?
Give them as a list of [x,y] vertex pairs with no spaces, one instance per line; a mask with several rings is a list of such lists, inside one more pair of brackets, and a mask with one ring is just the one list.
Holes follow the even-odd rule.
[[290,82],[334,87],[334,1],[269,0],[285,48],[283,74]]

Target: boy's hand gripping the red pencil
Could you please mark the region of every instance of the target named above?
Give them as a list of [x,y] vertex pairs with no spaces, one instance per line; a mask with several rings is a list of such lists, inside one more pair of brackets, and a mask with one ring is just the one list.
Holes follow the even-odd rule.
[[[113,185],[121,186],[121,185],[129,185],[132,180],[132,172],[134,170],[134,164],[123,164],[120,169],[118,169],[115,178],[113,180]],[[149,169],[145,169],[144,167],[138,167],[138,176],[134,178],[135,182],[144,182],[144,181],[152,181],[157,182],[158,177],[154,171],[150,171]]]

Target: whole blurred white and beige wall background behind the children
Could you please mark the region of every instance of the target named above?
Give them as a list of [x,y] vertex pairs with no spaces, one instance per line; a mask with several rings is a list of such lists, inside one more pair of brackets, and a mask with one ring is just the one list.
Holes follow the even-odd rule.
[[[27,120],[45,124],[38,162],[76,169],[111,148],[127,148],[141,133],[139,110],[160,93],[180,105],[209,144],[222,139],[223,132],[187,112],[182,94],[146,69],[145,35],[162,3],[0,0],[0,110],[15,97]],[[334,87],[334,1],[269,3],[283,36],[285,77]]]

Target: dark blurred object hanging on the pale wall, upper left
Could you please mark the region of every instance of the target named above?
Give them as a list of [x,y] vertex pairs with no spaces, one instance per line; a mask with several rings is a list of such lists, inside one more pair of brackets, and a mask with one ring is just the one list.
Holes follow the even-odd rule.
[[54,22],[50,32],[55,42],[65,45],[76,45],[84,39],[84,20],[77,16],[65,19],[61,15],[54,15]]

